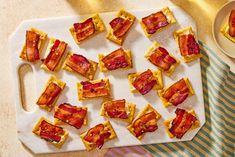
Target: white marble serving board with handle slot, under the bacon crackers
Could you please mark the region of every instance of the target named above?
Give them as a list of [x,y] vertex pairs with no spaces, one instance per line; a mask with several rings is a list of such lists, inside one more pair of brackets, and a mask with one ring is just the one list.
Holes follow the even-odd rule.
[[[164,85],[167,86],[181,79],[182,77],[188,77],[195,90],[195,95],[187,98],[187,100],[183,104],[180,104],[178,107],[185,109],[193,108],[198,115],[198,119],[201,122],[201,126],[205,123],[205,110],[202,93],[200,61],[196,60],[192,63],[184,63],[180,56],[178,45],[173,38],[173,32],[185,26],[192,26],[193,30],[196,32],[196,24],[194,20],[180,8],[170,7],[178,23],[170,26],[168,29],[160,33],[153,35],[151,38],[147,38],[144,35],[143,30],[141,29],[139,20],[146,15],[159,11],[160,9],[162,8],[156,7],[156,9],[152,10],[130,11],[136,16],[137,19],[130,32],[128,33],[123,47],[125,49],[131,49],[132,51],[132,59],[134,63],[133,68],[129,70],[116,70],[108,73],[102,73],[98,70],[95,76],[95,79],[108,77],[111,83],[112,96],[115,99],[126,99],[129,102],[135,103],[137,105],[136,114],[146,104],[152,104],[152,106],[162,115],[162,118],[158,122],[159,128],[153,133],[145,134],[144,138],[139,141],[126,129],[127,124],[125,122],[110,119],[112,126],[117,133],[117,138],[105,143],[103,148],[188,141],[191,140],[200,129],[198,128],[186,133],[182,139],[169,138],[163,125],[163,121],[170,117],[174,117],[174,111],[176,108],[165,108],[155,90],[152,90],[144,96],[138,93],[133,94],[130,92],[127,79],[128,73],[136,71],[141,72],[148,68],[152,70],[157,69],[154,65],[152,65],[149,61],[144,58],[144,52],[146,52],[146,50],[153,44],[154,41],[157,41],[162,44],[167,50],[169,50],[170,53],[172,53],[174,56],[181,60],[181,64],[176,68],[176,71],[171,77],[168,77],[163,74]],[[76,45],[76,43],[74,42],[72,36],[69,33],[69,27],[73,23],[81,21],[82,19],[85,19],[90,15],[23,21],[10,37],[9,45],[10,53],[12,54],[11,59],[14,72],[13,76],[15,78],[14,96],[16,102],[16,122],[18,137],[34,153],[52,153],[84,150],[85,147],[79,137],[79,134],[86,131],[90,127],[98,123],[102,123],[108,119],[99,115],[102,99],[78,101],[76,83],[78,81],[85,80],[84,78],[62,69],[58,73],[45,72],[44,70],[40,69],[41,61],[38,61],[37,64],[34,65],[26,63],[19,58],[19,54],[25,42],[25,31],[30,27],[35,27],[40,30],[43,30],[48,33],[49,38],[54,37],[66,41],[69,44],[69,50],[71,50],[72,52],[83,54],[87,58],[98,62],[99,53],[107,54],[119,47],[118,45],[106,40],[105,38],[107,28],[109,28],[108,23],[113,18],[115,18],[116,12],[100,13],[99,15],[105,23],[106,31],[83,42],[80,46]],[[39,97],[39,95],[41,94],[42,89],[44,88],[44,85],[48,81],[49,77],[51,75],[55,75],[67,84],[62,95],[59,97],[56,105],[67,102],[73,105],[88,107],[89,123],[87,126],[84,126],[79,130],[76,130],[75,128],[69,125],[63,126],[64,129],[69,132],[69,138],[61,149],[55,148],[53,145],[45,142],[44,140],[40,139],[32,133],[32,128],[41,116],[48,118],[50,121],[53,121],[53,112],[49,113],[47,111],[41,110],[36,104],[34,104],[36,107],[35,110],[32,112],[27,112],[22,108],[18,70],[19,67],[23,64],[29,64],[33,69],[33,75],[36,81],[36,91],[32,92],[36,92],[37,97]]]

